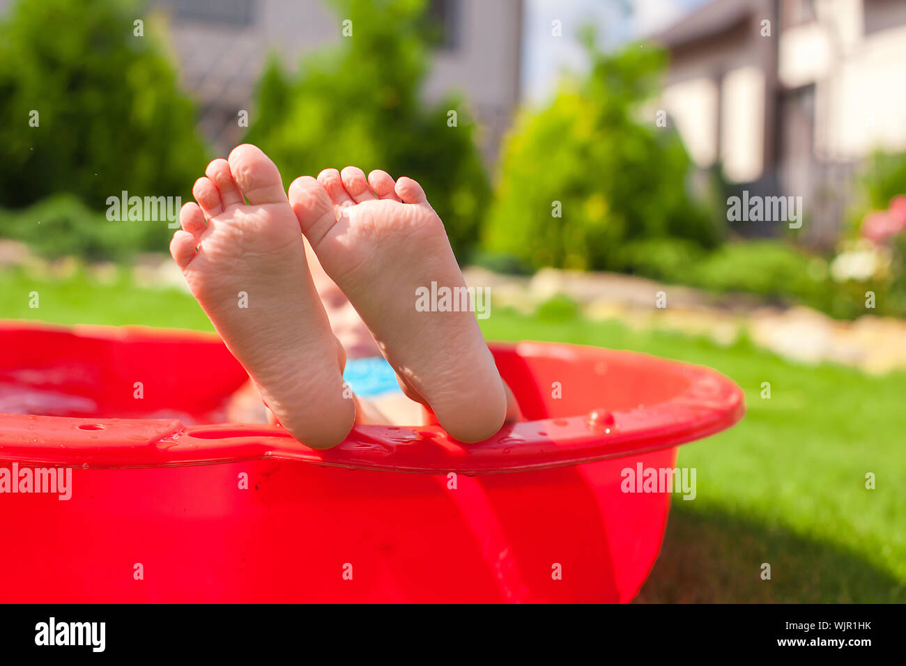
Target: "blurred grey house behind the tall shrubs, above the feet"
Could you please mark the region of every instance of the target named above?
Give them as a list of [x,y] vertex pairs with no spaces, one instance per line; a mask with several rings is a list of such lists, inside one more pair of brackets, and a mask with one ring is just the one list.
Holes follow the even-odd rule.
[[[343,38],[342,16],[324,0],[154,0],[153,6],[166,15],[182,85],[200,105],[201,128],[221,152],[245,131],[238,111],[254,113],[255,82],[269,53],[294,71],[305,53]],[[433,53],[426,101],[463,94],[488,164],[519,100],[522,11],[522,0],[429,3],[443,39]]]

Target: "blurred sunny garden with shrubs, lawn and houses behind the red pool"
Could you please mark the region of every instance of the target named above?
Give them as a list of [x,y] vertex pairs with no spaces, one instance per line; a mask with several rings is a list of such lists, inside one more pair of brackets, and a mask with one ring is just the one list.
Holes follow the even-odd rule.
[[639,601],[904,601],[904,63],[906,0],[0,0],[0,317],[210,330],[167,247],[240,142],[408,175],[489,338],[747,391]]

